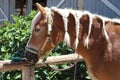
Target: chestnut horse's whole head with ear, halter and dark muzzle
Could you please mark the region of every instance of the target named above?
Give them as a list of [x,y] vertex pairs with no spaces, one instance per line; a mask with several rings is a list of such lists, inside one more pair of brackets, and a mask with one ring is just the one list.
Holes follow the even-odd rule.
[[[31,23],[31,36],[25,47],[28,62],[36,63],[54,45],[50,38],[52,18],[50,11],[36,3],[39,12]],[[49,14],[49,15],[48,15]]]

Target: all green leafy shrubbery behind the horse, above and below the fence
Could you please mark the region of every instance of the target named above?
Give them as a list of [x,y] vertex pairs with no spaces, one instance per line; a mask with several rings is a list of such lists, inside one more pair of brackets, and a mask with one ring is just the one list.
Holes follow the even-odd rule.
[[[32,11],[28,16],[14,15],[14,23],[5,22],[5,26],[0,28],[0,60],[11,59],[11,55],[15,52],[24,55],[24,47],[30,36],[30,24],[36,11]],[[74,53],[74,50],[63,43],[50,53],[50,56]],[[57,68],[65,68],[70,64],[55,65]],[[46,67],[35,69],[35,80],[73,80],[74,68],[67,71],[54,71]],[[77,64],[76,80],[87,79],[87,71],[85,62]],[[0,73],[0,80],[21,80],[21,71],[8,71]]]

